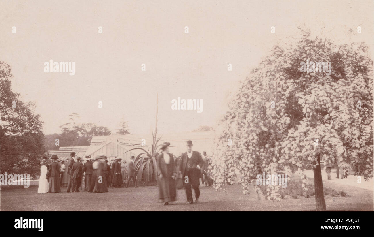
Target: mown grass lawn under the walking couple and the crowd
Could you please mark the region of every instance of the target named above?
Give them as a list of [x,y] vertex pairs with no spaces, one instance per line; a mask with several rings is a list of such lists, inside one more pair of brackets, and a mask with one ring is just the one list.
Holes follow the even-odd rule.
[[[313,179],[309,179],[312,183]],[[326,185],[324,183],[324,185]],[[373,192],[359,187],[329,183],[347,196],[325,196],[328,211],[373,211]],[[243,195],[238,184],[224,186],[227,194],[212,186],[201,186],[197,204],[185,204],[184,190],[177,190],[177,201],[169,206],[157,202],[157,187],[109,188],[107,193],[37,193],[37,187],[1,186],[1,211],[314,211],[314,196],[268,201],[252,190]]]

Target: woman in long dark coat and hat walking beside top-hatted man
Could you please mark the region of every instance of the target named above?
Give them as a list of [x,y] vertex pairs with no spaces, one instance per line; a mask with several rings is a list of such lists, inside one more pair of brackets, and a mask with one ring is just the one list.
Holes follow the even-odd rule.
[[165,202],[164,205],[169,205],[169,202],[175,201],[177,197],[175,186],[177,171],[173,155],[169,153],[169,145],[169,142],[164,142],[161,146],[162,154],[156,158],[159,199],[160,202]]

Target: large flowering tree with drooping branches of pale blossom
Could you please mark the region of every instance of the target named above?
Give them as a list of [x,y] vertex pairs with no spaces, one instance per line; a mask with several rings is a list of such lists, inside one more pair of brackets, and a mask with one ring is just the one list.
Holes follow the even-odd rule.
[[[242,83],[218,127],[215,188],[238,170],[244,193],[263,172],[296,172],[306,189],[304,171],[312,166],[316,209],[325,210],[322,157],[373,177],[373,60],[367,50],[363,43],[310,39],[309,32],[297,45],[275,46]],[[279,186],[267,191],[268,199],[280,199]]]

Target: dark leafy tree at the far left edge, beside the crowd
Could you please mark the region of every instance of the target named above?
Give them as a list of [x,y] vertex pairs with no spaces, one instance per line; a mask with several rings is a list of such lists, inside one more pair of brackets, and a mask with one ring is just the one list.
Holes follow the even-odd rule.
[[34,103],[25,103],[19,93],[12,92],[12,78],[10,66],[0,62],[0,172],[35,177],[46,151],[43,122],[34,114]]

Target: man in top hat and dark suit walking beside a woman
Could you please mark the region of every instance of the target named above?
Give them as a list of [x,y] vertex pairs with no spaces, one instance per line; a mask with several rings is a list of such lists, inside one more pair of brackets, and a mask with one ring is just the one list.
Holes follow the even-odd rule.
[[187,204],[193,203],[191,186],[195,190],[195,198],[197,202],[200,197],[200,176],[201,168],[204,160],[199,152],[192,150],[192,141],[187,141],[187,152],[183,153],[178,170],[180,177],[184,179],[184,187],[186,188]]

